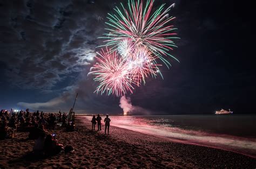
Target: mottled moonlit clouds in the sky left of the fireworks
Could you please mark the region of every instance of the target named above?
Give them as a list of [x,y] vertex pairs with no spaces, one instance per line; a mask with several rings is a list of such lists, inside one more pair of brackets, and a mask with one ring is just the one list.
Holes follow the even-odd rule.
[[96,37],[103,33],[99,10],[86,1],[4,1],[5,75],[20,88],[49,90],[68,78],[62,75],[81,72],[95,57]]

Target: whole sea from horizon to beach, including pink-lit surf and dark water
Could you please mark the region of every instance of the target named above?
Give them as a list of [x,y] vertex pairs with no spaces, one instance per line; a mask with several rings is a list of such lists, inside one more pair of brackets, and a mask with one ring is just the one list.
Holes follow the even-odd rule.
[[[90,116],[87,116],[90,119]],[[256,115],[110,116],[111,125],[256,158]]]

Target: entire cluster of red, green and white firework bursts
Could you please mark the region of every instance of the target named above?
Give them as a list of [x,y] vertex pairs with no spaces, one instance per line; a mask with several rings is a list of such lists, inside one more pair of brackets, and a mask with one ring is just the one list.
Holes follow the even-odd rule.
[[[164,10],[164,4],[152,11],[153,0],[128,1],[128,8],[120,3],[113,15],[108,14],[110,32],[104,34],[106,40],[100,53],[97,53],[97,63],[90,69],[89,74],[96,75],[93,79],[99,82],[96,93],[123,96],[133,93],[134,87],[145,85],[149,76],[156,78],[161,75],[158,60],[169,68],[168,61],[174,58],[170,51],[177,47],[173,39],[176,30],[168,25],[174,17],[169,17],[172,8]],[[178,61],[178,60],[177,60]],[[163,78],[163,76],[162,76]]]

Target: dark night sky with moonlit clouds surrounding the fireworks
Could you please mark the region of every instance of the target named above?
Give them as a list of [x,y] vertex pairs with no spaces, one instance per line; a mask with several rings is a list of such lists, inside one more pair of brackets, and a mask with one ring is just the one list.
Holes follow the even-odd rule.
[[[93,3],[94,2],[94,3]],[[0,109],[122,113],[115,96],[96,95],[87,76],[106,15],[120,1],[0,1]],[[126,2],[126,1],[122,1]],[[164,80],[149,78],[131,97],[139,112],[213,114],[221,108],[255,113],[253,4],[156,0],[178,28],[179,46]]]

